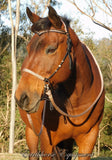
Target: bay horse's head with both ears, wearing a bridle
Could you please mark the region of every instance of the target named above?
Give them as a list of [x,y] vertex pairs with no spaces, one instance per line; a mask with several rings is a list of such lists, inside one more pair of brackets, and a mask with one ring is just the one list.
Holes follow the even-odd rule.
[[61,18],[51,6],[48,8],[46,18],[27,8],[34,36],[27,45],[28,55],[21,68],[15,98],[17,104],[30,113],[37,111],[45,83],[55,86],[66,81],[74,64],[74,40],[71,40],[69,21]]

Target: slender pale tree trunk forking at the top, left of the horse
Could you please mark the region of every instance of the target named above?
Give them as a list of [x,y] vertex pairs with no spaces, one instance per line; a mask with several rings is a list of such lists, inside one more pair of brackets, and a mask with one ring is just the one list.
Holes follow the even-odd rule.
[[12,46],[12,97],[11,97],[11,120],[10,120],[10,142],[9,142],[9,153],[13,153],[14,148],[14,125],[15,125],[15,90],[16,90],[16,44],[17,44],[17,34],[19,28],[19,8],[20,0],[17,0],[16,7],[16,23],[13,24],[11,1],[8,0],[9,5],[9,15],[11,20],[11,46]]

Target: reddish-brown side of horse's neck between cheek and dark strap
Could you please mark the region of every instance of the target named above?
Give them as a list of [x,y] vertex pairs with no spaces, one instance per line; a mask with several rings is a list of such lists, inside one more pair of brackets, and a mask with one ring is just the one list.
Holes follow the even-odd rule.
[[67,90],[69,90],[70,93],[75,91],[80,96],[82,92],[85,93],[90,89],[93,75],[84,45],[80,42],[72,29],[70,29],[69,32],[74,49],[74,68],[65,86],[69,86]]

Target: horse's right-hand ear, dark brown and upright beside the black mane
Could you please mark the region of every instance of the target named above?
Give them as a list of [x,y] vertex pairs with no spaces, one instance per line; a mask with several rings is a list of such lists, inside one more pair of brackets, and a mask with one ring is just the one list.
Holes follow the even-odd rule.
[[53,7],[49,6],[48,9],[49,9],[48,18],[52,23],[52,25],[57,29],[61,28],[62,21],[60,16],[56,13]]

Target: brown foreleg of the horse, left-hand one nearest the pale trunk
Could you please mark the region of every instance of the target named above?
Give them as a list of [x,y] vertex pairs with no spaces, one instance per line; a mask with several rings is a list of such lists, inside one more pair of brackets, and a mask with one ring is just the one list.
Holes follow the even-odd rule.
[[38,160],[38,137],[33,130],[26,126],[26,142],[30,150],[29,160]]

